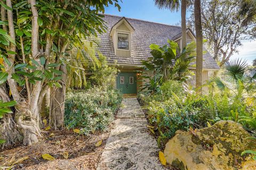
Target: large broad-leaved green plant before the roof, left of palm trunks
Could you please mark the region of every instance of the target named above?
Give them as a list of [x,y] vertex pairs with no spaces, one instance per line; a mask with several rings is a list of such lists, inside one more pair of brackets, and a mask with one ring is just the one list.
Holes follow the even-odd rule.
[[181,54],[178,56],[177,51],[180,48],[174,41],[168,40],[168,45],[159,47],[156,44],[151,44],[151,55],[147,61],[143,61],[145,70],[149,71],[153,76],[157,75],[157,80],[165,82],[167,80],[181,80],[185,81],[191,72],[189,67],[195,61],[195,42],[188,44],[183,48]]

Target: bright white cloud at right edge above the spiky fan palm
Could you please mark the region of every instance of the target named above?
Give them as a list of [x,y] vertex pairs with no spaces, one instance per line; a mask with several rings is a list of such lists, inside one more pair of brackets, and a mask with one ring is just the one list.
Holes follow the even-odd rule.
[[248,64],[252,64],[252,61],[256,59],[256,41],[244,40],[243,46],[238,48],[239,53],[234,54],[230,59],[243,58]]

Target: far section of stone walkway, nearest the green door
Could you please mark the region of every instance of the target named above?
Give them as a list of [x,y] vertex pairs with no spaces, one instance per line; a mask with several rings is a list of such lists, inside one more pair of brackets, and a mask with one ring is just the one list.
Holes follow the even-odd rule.
[[137,98],[124,98],[121,105],[117,118],[145,118]]

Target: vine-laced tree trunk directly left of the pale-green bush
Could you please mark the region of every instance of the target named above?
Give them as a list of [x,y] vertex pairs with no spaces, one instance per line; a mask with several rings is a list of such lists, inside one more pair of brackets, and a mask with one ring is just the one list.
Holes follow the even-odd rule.
[[60,70],[63,72],[60,82],[62,87],[52,89],[50,103],[50,125],[55,130],[62,129],[64,126],[67,65],[62,64]]

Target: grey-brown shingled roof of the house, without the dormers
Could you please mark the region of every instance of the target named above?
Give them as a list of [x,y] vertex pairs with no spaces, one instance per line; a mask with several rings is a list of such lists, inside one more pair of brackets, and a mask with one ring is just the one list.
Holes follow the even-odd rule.
[[[177,35],[181,33],[181,27],[178,26],[125,18],[134,28],[134,32],[131,35],[131,56],[116,56],[113,40],[109,33],[113,25],[121,19],[121,16],[108,14],[105,14],[105,18],[103,18],[106,22],[107,31],[99,35],[100,44],[98,49],[103,55],[107,56],[109,63],[117,61],[118,64],[141,65],[141,61],[147,60],[151,56],[150,44],[154,43],[163,46],[167,43],[167,39],[177,39]],[[219,66],[209,53],[204,54],[203,58],[204,69],[219,69]]]

